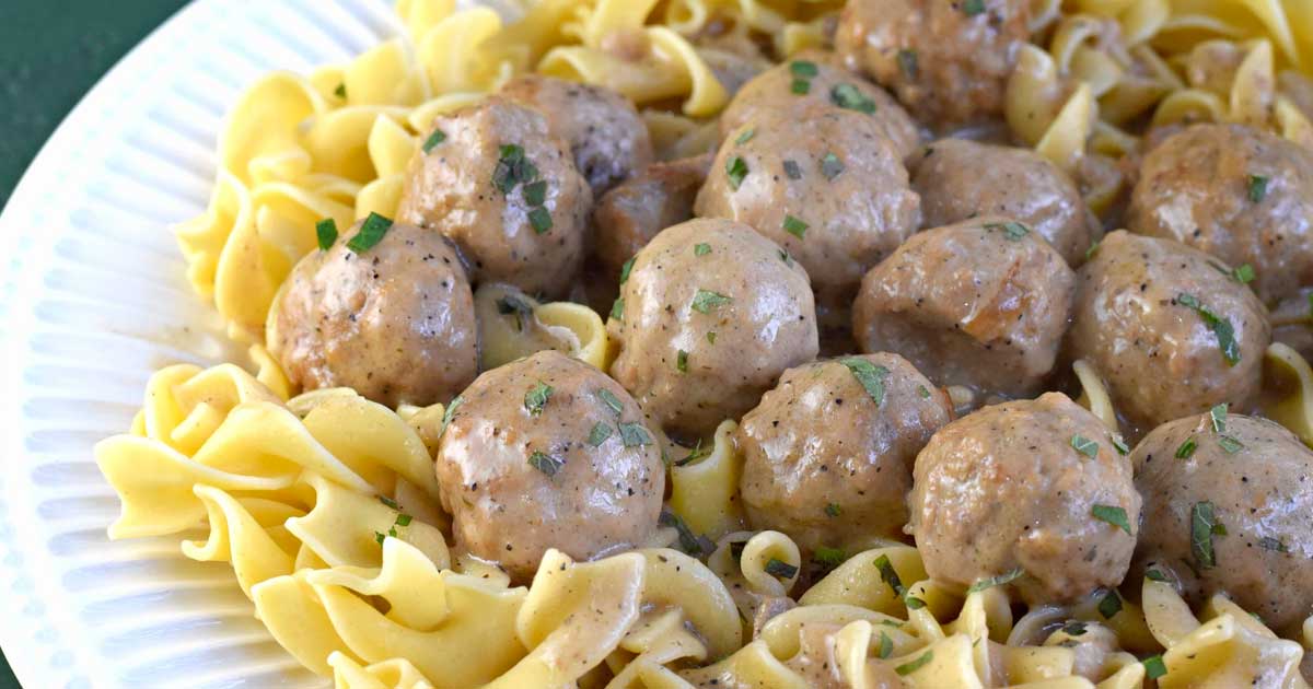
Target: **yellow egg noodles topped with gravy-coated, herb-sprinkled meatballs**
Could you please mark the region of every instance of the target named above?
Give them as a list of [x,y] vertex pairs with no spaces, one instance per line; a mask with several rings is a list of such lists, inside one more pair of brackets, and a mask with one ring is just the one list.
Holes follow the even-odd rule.
[[1313,7],[456,5],[234,105],[112,538],[339,688],[1313,681]]

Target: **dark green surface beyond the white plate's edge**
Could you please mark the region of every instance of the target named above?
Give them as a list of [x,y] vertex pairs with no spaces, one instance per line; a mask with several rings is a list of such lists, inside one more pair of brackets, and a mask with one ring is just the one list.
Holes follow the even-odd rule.
[[[0,207],[55,126],[185,0],[0,0]],[[0,689],[18,686],[0,659]]]

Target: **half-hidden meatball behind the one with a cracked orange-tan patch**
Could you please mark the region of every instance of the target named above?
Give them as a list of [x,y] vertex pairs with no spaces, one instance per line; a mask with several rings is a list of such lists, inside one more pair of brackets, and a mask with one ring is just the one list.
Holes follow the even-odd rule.
[[909,161],[927,227],[1006,215],[1079,265],[1099,220],[1070,177],[1029,148],[940,139]]

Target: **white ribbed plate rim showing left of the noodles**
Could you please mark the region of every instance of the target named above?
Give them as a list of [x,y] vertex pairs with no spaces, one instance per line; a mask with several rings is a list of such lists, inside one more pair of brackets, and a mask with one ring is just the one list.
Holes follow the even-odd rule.
[[25,688],[327,684],[227,566],[176,535],[109,542],[91,448],[155,369],[240,361],[168,231],[205,209],[227,106],[399,30],[385,0],[200,0],[92,89],[0,217],[0,644]]

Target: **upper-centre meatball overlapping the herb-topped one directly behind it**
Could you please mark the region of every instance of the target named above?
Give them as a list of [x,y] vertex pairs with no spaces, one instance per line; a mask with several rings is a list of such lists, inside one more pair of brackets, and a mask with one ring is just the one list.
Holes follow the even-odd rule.
[[821,304],[847,306],[920,223],[899,160],[865,114],[760,109],[721,144],[695,210],[752,226],[807,269]]

